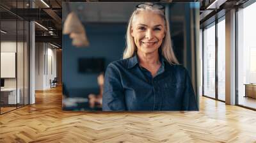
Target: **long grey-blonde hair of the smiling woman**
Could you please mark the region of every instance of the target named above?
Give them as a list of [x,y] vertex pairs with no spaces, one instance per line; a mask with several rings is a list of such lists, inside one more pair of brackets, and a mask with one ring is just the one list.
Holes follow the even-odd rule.
[[150,4],[152,5],[152,3],[147,3],[147,4],[148,4],[148,6],[146,6],[145,8],[136,8],[136,10],[133,11],[133,13],[132,13],[132,15],[129,19],[127,32],[126,32],[126,47],[125,47],[125,50],[124,50],[123,59],[127,59],[127,58],[132,57],[134,55],[134,52],[137,51],[137,47],[136,47],[136,45],[134,43],[134,39],[132,38],[132,35],[131,35],[132,20],[134,19],[134,16],[138,15],[138,13],[140,11],[150,10],[150,11],[154,11],[154,12],[158,13],[164,19],[164,26],[165,26],[165,33],[166,34],[165,34],[163,42],[161,44],[161,54],[162,54],[162,56],[170,64],[179,64],[179,61],[177,60],[177,58],[175,57],[175,54],[173,52],[169,22],[165,18],[164,11],[163,10],[158,10],[158,9],[154,10],[153,6],[150,6]]

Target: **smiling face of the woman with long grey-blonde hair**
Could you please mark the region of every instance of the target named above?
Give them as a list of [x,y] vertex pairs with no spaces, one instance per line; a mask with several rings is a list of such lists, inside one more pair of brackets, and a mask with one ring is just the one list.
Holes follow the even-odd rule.
[[132,20],[131,35],[138,52],[158,52],[165,33],[164,19],[154,11],[143,10]]

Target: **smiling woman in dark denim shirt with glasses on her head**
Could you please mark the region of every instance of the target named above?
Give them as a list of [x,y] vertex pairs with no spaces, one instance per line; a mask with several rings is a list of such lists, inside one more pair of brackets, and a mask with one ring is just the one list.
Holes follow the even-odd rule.
[[189,74],[173,53],[163,5],[136,6],[126,39],[124,59],[106,70],[103,110],[198,110]]

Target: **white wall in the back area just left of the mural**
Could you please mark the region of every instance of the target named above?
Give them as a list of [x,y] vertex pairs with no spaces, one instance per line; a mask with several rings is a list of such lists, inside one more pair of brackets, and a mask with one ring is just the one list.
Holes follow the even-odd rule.
[[36,90],[44,90],[51,87],[50,79],[53,80],[56,77],[56,67],[56,49],[49,43],[36,43]]

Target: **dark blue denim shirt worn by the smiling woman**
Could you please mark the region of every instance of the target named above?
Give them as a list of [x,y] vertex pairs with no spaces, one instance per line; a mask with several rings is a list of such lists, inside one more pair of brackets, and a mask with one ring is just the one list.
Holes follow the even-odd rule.
[[189,73],[159,56],[155,77],[141,67],[137,55],[108,65],[102,110],[198,110]]

